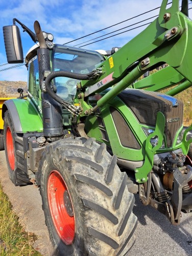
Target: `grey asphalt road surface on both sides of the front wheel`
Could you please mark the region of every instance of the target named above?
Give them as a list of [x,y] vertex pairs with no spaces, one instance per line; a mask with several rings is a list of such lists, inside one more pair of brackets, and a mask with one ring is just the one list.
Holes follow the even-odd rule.
[[[0,151],[0,180],[21,224],[26,231],[38,236],[34,247],[43,255],[53,256],[54,249],[44,223],[39,191],[33,185],[14,187],[8,177],[4,151]],[[192,256],[192,213],[182,214],[180,225],[172,225],[151,206],[143,206],[137,195],[135,198],[133,211],[138,218],[138,226],[136,242],[129,256]]]

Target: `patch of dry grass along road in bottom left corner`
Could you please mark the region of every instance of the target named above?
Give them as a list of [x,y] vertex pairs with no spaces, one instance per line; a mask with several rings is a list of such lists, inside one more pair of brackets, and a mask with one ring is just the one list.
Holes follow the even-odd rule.
[[8,196],[3,192],[1,183],[0,205],[0,255],[41,255],[33,248],[36,236],[25,232],[19,224],[18,217],[12,211],[12,205]]

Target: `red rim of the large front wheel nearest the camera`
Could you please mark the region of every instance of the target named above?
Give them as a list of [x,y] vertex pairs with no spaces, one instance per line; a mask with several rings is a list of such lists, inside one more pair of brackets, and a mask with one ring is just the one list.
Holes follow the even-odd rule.
[[[68,193],[70,214],[66,207],[64,193]],[[66,183],[58,171],[52,171],[47,183],[47,195],[51,216],[60,239],[66,244],[72,244],[75,237],[75,218],[71,197]],[[73,215],[73,216],[71,216]]]

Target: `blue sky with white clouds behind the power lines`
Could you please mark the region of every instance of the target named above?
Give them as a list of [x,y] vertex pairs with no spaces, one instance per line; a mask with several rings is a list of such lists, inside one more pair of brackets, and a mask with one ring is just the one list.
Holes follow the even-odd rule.
[[[25,66],[12,68],[8,71],[1,72],[2,69],[12,66],[11,64],[4,66],[1,65],[7,63],[2,27],[6,25],[12,25],[13,18],[17,18],[18,20],[20,20],[32,31],[34,31],[34,21],[38,20],[43,31],[52,33],[54,35],[55,43],[63,44],[84,35],[104,29],[143,12],[152,10],[156,7],[159,7],[161,5],[161,2],[161,0],[1,0],[0,80],[27,81],[27,69]],[[93,34],[89,37],[85,37],[75,42],[71,42],[68,45],[74,46],[78,43],[83,43],[92,38],[102,36],[114,30],[132,25],[135,22],[155,16],[158,14],[158,12],[159,9],[142,15],[136,19],[123,22],[118,26],[104,30],[100,33]],[[151,18],[149,21],[142,22],[139,25],[150,22],[153,19],[154,18]],[[126,42],[130,41],[131,38],[136,36],[145,27],[146,26],[123,33],[121,35],[111,37],[97,43],[84,46],[84,48],[92,50],[110,50],[113,46],[121,47]],[[25,56],[31,46],[34,45],[34,42],[31,40],[26,32],[22,32],[22,28],[20,26],[19,29],[21,33],[23,53]],[[128,29],[129,28],[126,28],[125,30]],[[124,30],[121,30],[119,32],[123,31]]]

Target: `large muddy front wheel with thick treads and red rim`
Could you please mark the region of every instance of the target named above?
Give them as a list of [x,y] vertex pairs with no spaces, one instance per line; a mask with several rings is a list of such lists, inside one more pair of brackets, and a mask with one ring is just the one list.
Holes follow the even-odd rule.
[[42,207],[59,255],[126,255],[137,218],[127,174],[94,139],[62,139],[40,161]]

